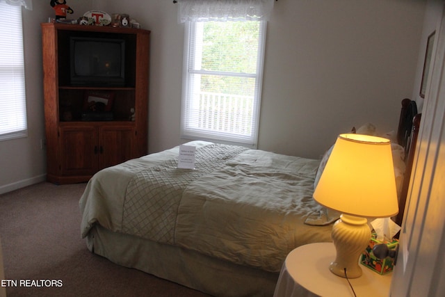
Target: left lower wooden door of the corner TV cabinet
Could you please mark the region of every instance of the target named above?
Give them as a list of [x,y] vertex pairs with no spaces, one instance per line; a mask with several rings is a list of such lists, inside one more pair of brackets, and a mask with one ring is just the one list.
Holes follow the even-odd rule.
[[60,127],[62,175],[93,175],[97,172],[97,128]]

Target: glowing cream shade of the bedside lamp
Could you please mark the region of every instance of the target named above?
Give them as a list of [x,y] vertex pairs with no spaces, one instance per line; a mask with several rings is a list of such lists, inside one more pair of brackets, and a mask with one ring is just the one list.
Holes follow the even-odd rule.
[[314,199],[343,214],[371,218],[398,213],[391,143],[386,138],[341,134]]

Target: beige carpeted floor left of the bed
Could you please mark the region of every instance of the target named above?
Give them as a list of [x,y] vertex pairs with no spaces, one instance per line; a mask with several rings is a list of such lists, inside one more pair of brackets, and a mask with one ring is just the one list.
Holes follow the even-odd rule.
[[[40,183],[0,195],[8,297],[208,296],[93,255],[80,236],[85,186]],[[54,287],[44,287],[48,280]]]

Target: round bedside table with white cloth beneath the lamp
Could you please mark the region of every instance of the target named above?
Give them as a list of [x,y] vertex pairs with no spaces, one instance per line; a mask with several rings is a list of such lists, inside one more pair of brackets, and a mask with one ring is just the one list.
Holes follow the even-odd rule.
[[[353,296],[346,278],[329,270],[335,259],[333,243],[312,243],[291,251],[283,264],[274,297]],[[391,275],[362,266],[360,278],[350,279],[357,296],[387,297]]]

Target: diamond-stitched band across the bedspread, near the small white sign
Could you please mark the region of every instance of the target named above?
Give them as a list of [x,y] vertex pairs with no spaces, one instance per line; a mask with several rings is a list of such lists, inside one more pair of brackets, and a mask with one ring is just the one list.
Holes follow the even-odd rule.
[[122,232],[174,244],[177,212],[186,187],[245,150],[245,147],[207,145],[196,151],[195,170],[179,169],[177,159],[170,159],[138,172],[127,186]]

